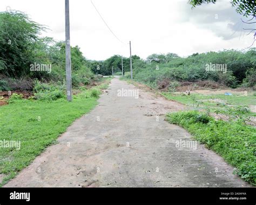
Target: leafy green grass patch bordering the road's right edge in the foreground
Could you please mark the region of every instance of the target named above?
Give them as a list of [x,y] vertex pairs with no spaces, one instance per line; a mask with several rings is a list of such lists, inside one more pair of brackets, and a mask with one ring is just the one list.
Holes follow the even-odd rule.
[[242,121],[215,121],[198,111],[169,113],[167,121],[184,127],[193,138],[206,145],[237,168],[236,173],[256,186],[256,128]]

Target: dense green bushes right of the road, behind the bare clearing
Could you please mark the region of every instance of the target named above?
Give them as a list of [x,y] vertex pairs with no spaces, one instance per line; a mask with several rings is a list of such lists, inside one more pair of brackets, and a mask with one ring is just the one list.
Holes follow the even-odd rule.
[[[207,65],[213,64],[226,66],[226,72],[206,71]],[[256,49],[195,53],[187,58],[173,53],[152,54],[146,60],[134,60],[133,77],[152,87],[163,80],[169,81],[167,86],[176,81],[213,80],[230,87],[256,88]]]

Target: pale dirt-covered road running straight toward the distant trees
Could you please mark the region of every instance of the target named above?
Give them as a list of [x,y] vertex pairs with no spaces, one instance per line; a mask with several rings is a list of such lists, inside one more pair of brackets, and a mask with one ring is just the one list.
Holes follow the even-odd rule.
[[164,114],[184,106],[137,94],[133,85],[113,79],[99,105],[5,187],[248,186],[203,145],[176,146],[191,136],[164,121]]

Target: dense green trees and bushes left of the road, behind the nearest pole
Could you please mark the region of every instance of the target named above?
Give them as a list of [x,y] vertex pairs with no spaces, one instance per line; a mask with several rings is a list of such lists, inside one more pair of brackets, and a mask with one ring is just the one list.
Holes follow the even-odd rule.
[[[0,90],[32,90],[35,79],[65,80],[65,42],[39,37],[46,28],[19,11],[0,13],[0,28]],[[78,46],[71,47],[71,60],[72,85],[88,84],[94,75]]]

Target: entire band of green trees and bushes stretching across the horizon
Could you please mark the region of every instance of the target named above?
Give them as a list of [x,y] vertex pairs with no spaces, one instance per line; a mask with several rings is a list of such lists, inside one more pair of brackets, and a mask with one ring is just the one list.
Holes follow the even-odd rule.
[[[0,90],[31,90],[39,81],[65,81],[65,42],[42,38],[47,30],[20,11],[0,13]],[[121,56],[87,60],[78,46],[71,47],[72,85],[89,84],[102,74],[122,74]],[[152,54],[146,60],[132,56],[133,77],[150,86],[161,80],[213,80],[230,87],[254,87],[256,49],[195,53],[186,58],[174,53]],[[123,58],[124,73],[130,58]]]

